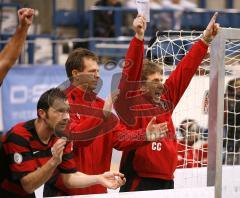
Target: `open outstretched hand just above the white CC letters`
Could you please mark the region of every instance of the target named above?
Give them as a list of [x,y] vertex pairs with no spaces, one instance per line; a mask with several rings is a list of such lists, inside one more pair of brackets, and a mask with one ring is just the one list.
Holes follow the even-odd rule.
[[156,117],[153,117],[147,125],[147,141],[157,141],[166,137],[168,132],[167,122],[154,124]]

